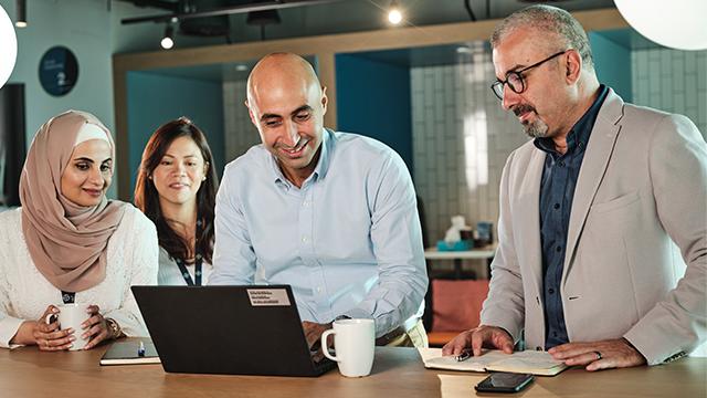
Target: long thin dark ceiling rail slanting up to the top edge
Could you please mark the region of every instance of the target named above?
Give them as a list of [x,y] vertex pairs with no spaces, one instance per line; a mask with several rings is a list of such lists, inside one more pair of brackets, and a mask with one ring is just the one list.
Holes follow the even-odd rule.
[[[137,1],[137,0],[136,0]],[[152,1],[152,0],[149,0]],[[265,10],[279,10],[287,9],[294,7],[304,7],[304,6],[317,6],[317,4],[326,4],[331,2],[337,2],[342,0],[275,0],[275,1],[263,1],[258,3],[243,4],[243,6],[231,6],[231,7],[221,7],[212,10],[197,11],[197,12],[175,12],[172,14],[166,15],[151,15],[151,17],[138,17],[138,18],[126,18],[120,21],[123,24],[130,23],[141,23],[141,22],[168,22],[172,19],[178,20],[187,20],[194,18],[204,18],[204,17],[219,17],[219,15],[230,15],[238,13],[246,13],[251,11],[265,11]]]

